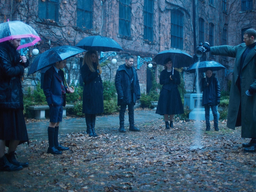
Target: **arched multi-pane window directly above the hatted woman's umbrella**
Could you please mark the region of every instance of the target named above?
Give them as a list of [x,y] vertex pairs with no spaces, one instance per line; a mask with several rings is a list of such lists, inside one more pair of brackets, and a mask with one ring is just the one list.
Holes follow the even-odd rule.
[[171,46],[183,49],[183,14],[180,11],[171,12]]

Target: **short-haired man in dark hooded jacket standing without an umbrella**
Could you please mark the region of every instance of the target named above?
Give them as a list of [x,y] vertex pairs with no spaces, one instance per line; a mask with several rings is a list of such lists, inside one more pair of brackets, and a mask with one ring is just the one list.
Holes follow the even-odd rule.
[[125,58],[125,63],[120,65],[116,71],[115,85],[117,92],[117,105],[120,106],[119,132],[126,132],[124,129],[124,113],[128,105],[129,115],[129,131],[140,131],[134,126],[134,105],[136,100],[140,99],[140,84],[137,75],[137,70],[132,66],[133,56],[128,55]]

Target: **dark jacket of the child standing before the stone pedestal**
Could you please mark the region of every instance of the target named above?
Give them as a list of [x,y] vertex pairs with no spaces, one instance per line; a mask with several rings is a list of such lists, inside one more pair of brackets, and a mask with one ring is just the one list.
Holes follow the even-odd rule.
[[[206,83],[208,83],[208,86]],[[201,91],[203,91],[202,105],[204,106],[205,104],[209,104],[217,106],[217,100],[220,100],[220,83],[218,79],[213,76],[210,78],[206,76],[201,79],[200,86]]]

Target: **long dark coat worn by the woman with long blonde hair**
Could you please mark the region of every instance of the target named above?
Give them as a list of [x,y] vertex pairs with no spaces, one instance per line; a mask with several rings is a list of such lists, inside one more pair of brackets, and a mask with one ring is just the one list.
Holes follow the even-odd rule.
[[84,81],[83,90],[83,113],[103,113],[103,84],[101,76],[97,72],[97,64],[93,63],[95,72],[92,72],[85,63],[81,68],[81,75]]

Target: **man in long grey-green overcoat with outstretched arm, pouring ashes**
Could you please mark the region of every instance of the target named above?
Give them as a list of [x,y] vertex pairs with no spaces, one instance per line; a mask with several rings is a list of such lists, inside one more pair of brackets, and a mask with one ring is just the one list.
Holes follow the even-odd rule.
[[[256,31],[252,28],[244,32],[244,43],[237,46],[204,46],[212,55],[234,57],[228,105],[227,127],[242,126],[242,137],[252,138],[243,143],[244,152],[256,152]],[[248,90],[247,94],[246,91]]]

